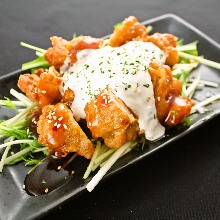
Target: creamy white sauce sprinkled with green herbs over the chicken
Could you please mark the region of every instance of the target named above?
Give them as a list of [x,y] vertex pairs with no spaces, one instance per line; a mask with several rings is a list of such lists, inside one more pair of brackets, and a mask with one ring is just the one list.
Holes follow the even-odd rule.
[[77,62],[61,67],[64,72],[62,94],[70,88],[75,93],[71,109],[76,120],[85,118],[84,108],[107,86],[138,116],[138,123],[148,140],[164,135],[157,119],[153,85],[148,72],[151,61],[164,63],[163,52],[151,42],[131,41],[120,47],[82,50]]

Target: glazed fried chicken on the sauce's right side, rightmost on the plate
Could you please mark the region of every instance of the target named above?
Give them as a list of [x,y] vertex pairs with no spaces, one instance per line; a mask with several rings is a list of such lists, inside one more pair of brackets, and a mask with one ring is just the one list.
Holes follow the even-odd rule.
[[194,102],[186,97],[180,97],[181,82],[173,78],[169,66],[151,62],[149,74],[154,87],[154,97],[158,120],[165,125],[175,126],[190,114]]

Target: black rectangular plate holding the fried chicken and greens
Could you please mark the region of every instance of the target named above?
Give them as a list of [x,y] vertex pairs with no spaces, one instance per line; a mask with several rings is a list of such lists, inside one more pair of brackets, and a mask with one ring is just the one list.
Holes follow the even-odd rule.
[[[184,43],[194,40],[199,41],[199,53],[207,59],[218,61],[220,56],[220,46],[195,27],[185,22],[173,14],[163,15],[144,22],[145,25],[152,25],[154,32],[172,33],[180,38],[184,38]],[[202,78],[220,84],[220,71],[201,65],[199,67]],[[9,96],[10,88],[17,89],[16,83],[21,71],[10,73],[0,78],[0,94],[2,97]],[[210,95],[220,93],[219,88],[206,88],[197,92],[197,97],[204,99]],[[1,98],[2,98],[1,97]],[[188,128],[175,128],[167,131],[166,135],[156,142],[148,142],[143,150],[134,150],[121,158],[111,168],[104,180],[122,171],[133,163],[147,157],[151,153],[167,146],[169,143],[185,136],[192,130],[203,125],[206,121],[213,119],[220,113],[220,102],[215,102],[208,106],[210,111],[205,114],[194,114],[191,116],[192,125]],[[8,111],[0,110],[1,119],[7,117]],[[88,161],[79,159],[73,166],[77,170],[71,181],[60,188],[43,196],[29,196],[23,190],[23,181],[30,168],[24,167],[23,163],[6,167],[0,174],[0,216],[3,219],[35,219],[43,216],[52,209],[58,207],[69,199],[74,199],[77,195],[86,190],[86,182],[82,179]],[[79,165],[80,166],[77,166]],[[98,186],[97,186],[98,187]]]

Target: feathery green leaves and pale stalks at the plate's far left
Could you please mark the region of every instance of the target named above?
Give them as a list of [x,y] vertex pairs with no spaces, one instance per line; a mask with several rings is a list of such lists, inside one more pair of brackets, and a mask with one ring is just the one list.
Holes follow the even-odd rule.
[[[0,161],[0,172],[3,169],[3,165],[12,165],[19,161],[25,161],[27,165],[37,163],[38,160],[33,158],[32,153],[43,152],[44,155],[48,154],[47,148],[43,147],[40,144],[32,132],[29,131],[29,126],[31,124],[31,112],[37,108],[37,104],[33,103],[27,97],[23,97],[22,94],[12,90],[11,94],[14,94],[18,98],[19,103],[22,102],[25,104],[26,108],[17,113],[14,117],[3,120],[0,123],[0,135],[8,136],[10,140],[0,144],[0,148],[4,148],[5,152]],[[10,103],[10,99],[7,99],[7,102]],[[5,103],[3,103],[5,104]],[[9,104],[11,106],[11,104]],[[19,151],[8,156],[9,150],[16,145],[19,147]],[[17,151],[18,148],[15,148]]]

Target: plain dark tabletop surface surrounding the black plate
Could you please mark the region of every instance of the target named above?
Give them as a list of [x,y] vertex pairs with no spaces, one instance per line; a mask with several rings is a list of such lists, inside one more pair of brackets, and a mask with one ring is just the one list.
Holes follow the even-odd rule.
[[[219,0],[1,0],[0,75],[52,35],[101,37],[129,15],[174,13],[220,43]],[[209,52],[208,52],[209,53]],[[220,118],[48,213],[44,219],[220,219]]]

